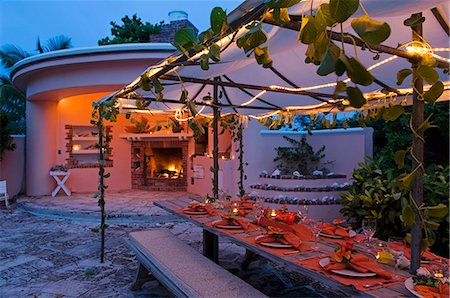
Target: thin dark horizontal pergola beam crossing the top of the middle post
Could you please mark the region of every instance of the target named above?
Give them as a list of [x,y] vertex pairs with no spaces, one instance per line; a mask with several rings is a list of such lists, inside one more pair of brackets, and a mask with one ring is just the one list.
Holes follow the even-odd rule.
[[231,82],[220,82],[208,79],[198,79],[198,78],[190,78],[190,77],[178,77],[173,75],[163,75],[160,77],[162,80],[167,81],[179,81],[180,79],[185,83],[197,83],[197,84],[206,84],[212,86],[224,86],[231,88],[242,88],[242,89],[253,89],[253,90],[261,90],[261,91],[269,91],[269,92],[277,92],[284,94],[296,94],[296,95],[305,95],[305,96],[318,96],[334,99],[333,94],[327,93],[319,93],[319,92],[310,92],[310,91],[298,91],[298,90],[288,90],[288,89],[277,89],[271,88],[269,86],[259,86],[259,85],[251,85],[251,84],[241,84],[241,83],[231,83]]

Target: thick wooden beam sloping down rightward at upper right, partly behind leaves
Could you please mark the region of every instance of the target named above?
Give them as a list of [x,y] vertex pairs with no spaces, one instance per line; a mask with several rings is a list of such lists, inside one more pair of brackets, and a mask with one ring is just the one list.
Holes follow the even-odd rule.
[[[300,27],[301,27],[301,22],[298,22],[298,21],[290,21],[285,24],[278,24],[271,14],[266,14],[264,16],[264,23],[267,23],[267,24],[273,25],[273,26],[290,29],[290,30],[294,30],[294,31],[300,31]],[[355,35],[345,33],[344,38],[342,39],[342,35],[340,32],[334,32],[332,30],[327,30],[327,33],[331,40],[339,41],[339,42],[341,42],[343,40],[344,43],[351,44],[351,45],[353,45],[353,40],[354,40],[356,46],[358,46],[362,49],[367,48],[366,43],[362,39],[360,39],[359,37],[357,37]],[[371,45],[370,48],[372,50],[378,51],[380,53],[385,53],[385,54],[390,54],[390,55],[395,55],[398,57],[405,58],[411,63],[417,63],[420,60],[420,56],[417,54],[414,54],[414,53],[411,53],[408,51],[404,51],[404,50],[400,50],[400,49],[396,49],[396,48],[386,46],[386,45]],[[450,64],[448,62],[437,61],[437,63],[438,63],[437,67],[439,67],[441,69],[448,70],[450,68]]]

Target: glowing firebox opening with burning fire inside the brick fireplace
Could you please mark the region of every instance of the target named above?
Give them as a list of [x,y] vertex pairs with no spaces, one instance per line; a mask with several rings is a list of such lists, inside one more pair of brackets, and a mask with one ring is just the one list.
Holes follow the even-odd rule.
[[181,148],[145,148],[148,178],[178,179],[183,177]]

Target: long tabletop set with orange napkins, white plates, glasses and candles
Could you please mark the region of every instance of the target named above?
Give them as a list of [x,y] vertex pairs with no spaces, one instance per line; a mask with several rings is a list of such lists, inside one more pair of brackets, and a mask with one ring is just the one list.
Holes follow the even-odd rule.
[[[363,221],[361,230],[355,230],[343,219],[330,223],[309,219],[307,208],[301,206],[293,212],[286,206],[270,209],[248,201],[192,201],[177,211],[192,218],[208,217],[203,224],[360,291],[404,284],[417,297],[448,297],[448,260],[426,250],[420,270],[427,277],[411,277],[403,270],[410,255],[405,239],[374,238],[374,220]],[[442,276],[435,276],[436,267]]]

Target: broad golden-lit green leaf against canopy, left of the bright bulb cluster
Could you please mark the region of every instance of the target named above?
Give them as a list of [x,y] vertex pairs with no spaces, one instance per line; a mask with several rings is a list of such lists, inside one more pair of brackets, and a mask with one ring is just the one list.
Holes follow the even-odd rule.
[[353,19],[352,28],[368,44],[380,44],[391,34],[387,23],[375,21],[368,16]]

